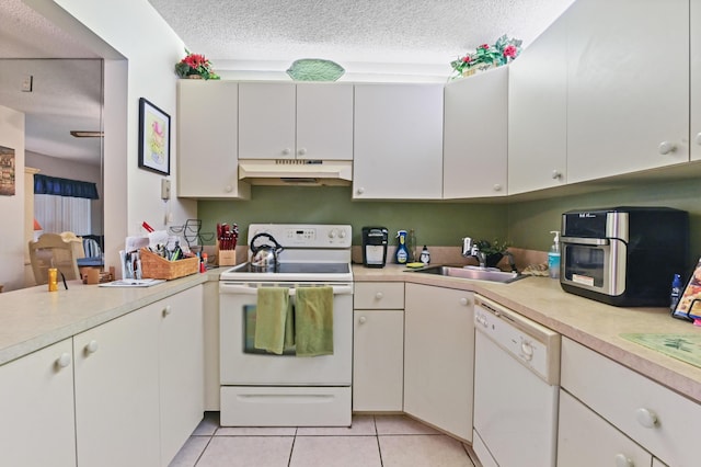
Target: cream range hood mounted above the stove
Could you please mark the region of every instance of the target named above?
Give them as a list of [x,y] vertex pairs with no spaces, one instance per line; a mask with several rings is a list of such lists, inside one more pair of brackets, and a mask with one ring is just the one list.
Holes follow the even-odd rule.
[[353,180],[353,161],[239,159],[239,180],[252,185],[349,185]]

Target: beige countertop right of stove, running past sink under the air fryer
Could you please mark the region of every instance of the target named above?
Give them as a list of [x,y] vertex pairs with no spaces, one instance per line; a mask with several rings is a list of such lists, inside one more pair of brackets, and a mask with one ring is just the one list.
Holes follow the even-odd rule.
[[693,324],[669,316],[666,308],[613,307],[560,287],[550,277],[526,277],[510,284],[470,281],[406,271],[353,266],[355,282],[406,282],[472,291],[491,298],[574,341],[701,403],[701,368],[628,341],[621,333],[700,333]]

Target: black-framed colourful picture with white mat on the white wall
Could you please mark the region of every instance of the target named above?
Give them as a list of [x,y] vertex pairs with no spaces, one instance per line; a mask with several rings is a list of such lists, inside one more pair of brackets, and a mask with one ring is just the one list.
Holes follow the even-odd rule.
[[171,116],[143,98],[139,99],[139,167],[171,173]]

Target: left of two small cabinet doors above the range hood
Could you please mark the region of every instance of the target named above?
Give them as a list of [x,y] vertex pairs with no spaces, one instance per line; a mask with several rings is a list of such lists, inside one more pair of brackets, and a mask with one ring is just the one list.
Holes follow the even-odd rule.
[[239,158],[295,158],[295,84],[239,84]]

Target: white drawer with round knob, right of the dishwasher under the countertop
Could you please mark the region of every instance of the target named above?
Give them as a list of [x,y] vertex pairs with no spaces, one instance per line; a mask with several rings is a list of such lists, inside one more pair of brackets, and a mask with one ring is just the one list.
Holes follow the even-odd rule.
[[568,339],[561,384],[666,464],[698,465],[701,405]]

